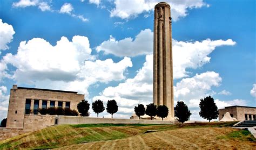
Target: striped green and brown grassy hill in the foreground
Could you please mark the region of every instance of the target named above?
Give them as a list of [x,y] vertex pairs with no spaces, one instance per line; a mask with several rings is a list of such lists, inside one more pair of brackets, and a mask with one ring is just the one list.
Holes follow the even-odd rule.
[[[0,141],[0,149],[255,148],[256,140],[250,132],[230,128],[233,124],[234,122],[177,125],[58,125]],[[145,133],[148,130],[157,132]]]

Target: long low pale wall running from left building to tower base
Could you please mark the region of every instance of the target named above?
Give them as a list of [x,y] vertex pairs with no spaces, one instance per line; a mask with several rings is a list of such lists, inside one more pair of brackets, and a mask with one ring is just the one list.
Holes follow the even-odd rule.
[[57,116],[57,124],[174,124],[171,121]]

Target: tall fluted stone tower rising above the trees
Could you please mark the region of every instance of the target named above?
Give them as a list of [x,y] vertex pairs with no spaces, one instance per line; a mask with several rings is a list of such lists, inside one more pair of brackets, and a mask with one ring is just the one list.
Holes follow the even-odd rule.
[[153,103],[169,108],[167,119],[174,119],[172,74],[172,22],[170,5],[154,6]]

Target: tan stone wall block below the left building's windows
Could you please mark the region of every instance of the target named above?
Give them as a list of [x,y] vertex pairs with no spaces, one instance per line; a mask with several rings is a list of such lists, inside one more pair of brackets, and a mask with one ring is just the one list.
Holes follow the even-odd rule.
[[23,130],[24,132],[31,132],[54,125],[55,117],[50,115],[25,115]]

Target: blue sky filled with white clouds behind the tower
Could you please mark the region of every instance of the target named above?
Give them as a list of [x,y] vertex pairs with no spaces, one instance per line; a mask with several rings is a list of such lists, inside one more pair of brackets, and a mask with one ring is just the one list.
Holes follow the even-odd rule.
[[[78,91],[89,103],[116,99],[116,118],[151,103],[158,2],[0,1],[0,119],[12,84]],[[256,106],[255,1],[166,2],[174,101],[188,105],[192,120],[201,120],[198,104],[208,95],[218,108]]]

